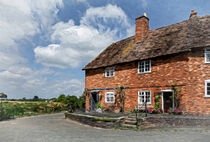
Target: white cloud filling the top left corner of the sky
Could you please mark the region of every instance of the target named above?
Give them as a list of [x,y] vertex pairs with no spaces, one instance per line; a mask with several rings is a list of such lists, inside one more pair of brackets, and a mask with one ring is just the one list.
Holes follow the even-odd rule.
[[16,41],[27,39],[53,24],[58,6],[62,6],[62,0],[1,0],[1,46],[15,46]]

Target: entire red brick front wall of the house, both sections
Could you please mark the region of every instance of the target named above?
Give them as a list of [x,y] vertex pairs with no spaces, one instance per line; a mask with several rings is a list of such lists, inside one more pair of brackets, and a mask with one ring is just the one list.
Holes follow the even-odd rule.
[[[104,77],[104,68],[86,71],[86,88],[118,87],[125,89],[125,111],[131,111],[138,105],[138,91],[150,90],[152,105],[154,95],[164,89],[171,89],[176,83],[181,89],[181,109],[193,114],[210,114],[210,98],[205,98],[205,80],[210,79],[210,64],[204,63],[203,50],[192,51],[171,56],[152,59],[151,73],[138,74],[138,62],[115,66],[115,77]],[[101,90],[102,106],[105,103],[105,92],[117,90]],[[117,94],[117,93],[116,93]],[[89,101],[87,100],[87,107]]]

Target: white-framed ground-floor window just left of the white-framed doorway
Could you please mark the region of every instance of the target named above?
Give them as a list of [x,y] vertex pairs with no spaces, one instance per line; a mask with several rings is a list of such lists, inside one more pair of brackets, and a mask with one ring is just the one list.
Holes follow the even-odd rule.
[[150,91],[139,91],[138,93],[138,104],[151,104],[151,92]]

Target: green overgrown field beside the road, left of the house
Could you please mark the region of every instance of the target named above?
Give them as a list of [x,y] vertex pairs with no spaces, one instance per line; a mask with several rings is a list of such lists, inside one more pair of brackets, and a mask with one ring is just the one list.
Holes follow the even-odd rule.
[[63,110],[66,110],[66,105],[58,102],[2,101],[0,103],[0,120]]

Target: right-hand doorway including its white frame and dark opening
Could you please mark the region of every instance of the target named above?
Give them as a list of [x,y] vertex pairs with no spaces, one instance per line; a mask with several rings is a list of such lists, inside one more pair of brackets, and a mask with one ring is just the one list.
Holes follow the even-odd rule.
[[162,90],[162,111],[168,113],[170,109],[174,110],[174,91]]

